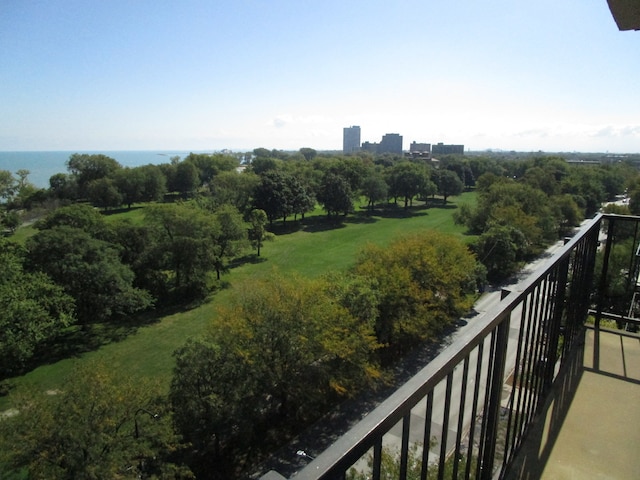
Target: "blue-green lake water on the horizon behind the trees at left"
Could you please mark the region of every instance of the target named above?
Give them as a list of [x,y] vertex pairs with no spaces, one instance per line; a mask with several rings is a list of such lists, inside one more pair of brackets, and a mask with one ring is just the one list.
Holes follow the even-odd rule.
[[[55,151],[55,152],[0,152],[0,170],[9,170],[16,178],[16,171],[29,170],[27,180],[39,188],[49,188],[49,178],[56,173],[69,173],[66,162],[74,153],[101,153],[116,160],[123,167],[158,165],[169,163],[171,157],[184,158],[184,151]],[[211,152],[194,152],[211,153]]]

